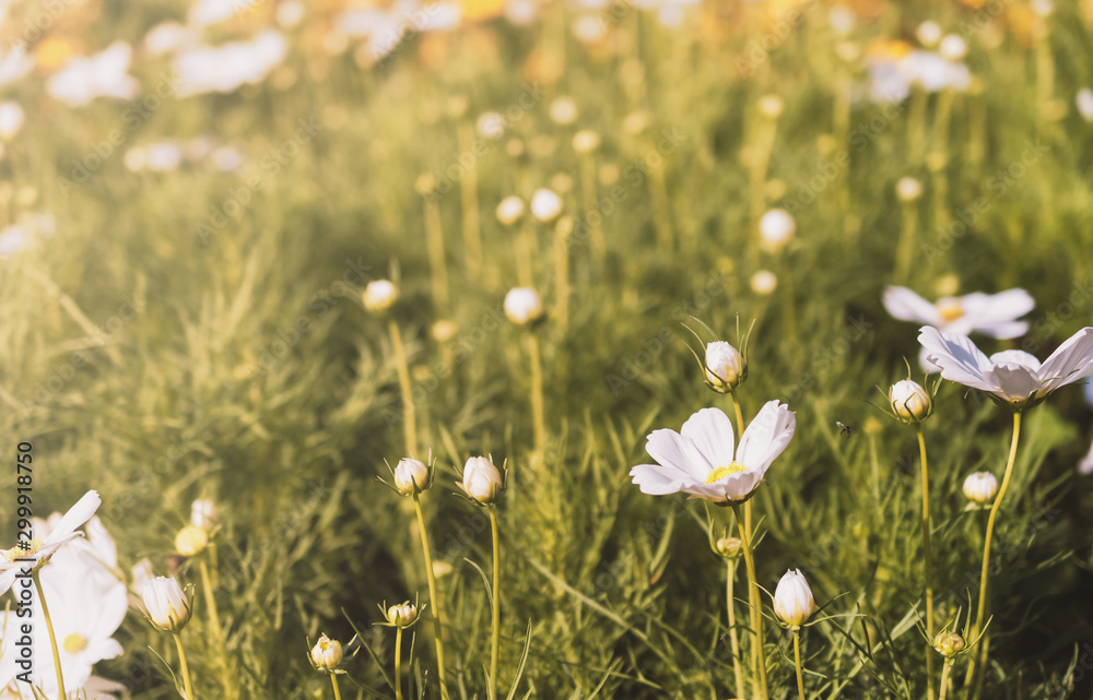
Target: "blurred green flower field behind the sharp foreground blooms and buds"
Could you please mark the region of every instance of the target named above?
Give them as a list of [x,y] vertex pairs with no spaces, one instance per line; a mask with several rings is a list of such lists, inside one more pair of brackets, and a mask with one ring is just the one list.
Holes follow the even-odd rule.
[[[37,517],[101,494],[130,592],[145,558],[193,585],[195,697],[330,697],[308,650],[353,626],[372,653],[342,695],[395,697],[377,605],[431,615],[421,522],[448,690],[490,697],[490,518],[450,495],[487,454],[502,693],[734,697],[731,512],[630,470],[653,429],[732,415],[689,345],[752,319],[743,414],[797,416],[753,498],[757,580],[800,569],[833,616],[802,633],[808,696],[927,697],[919,448],[868,403],[921,379],[919,324],[882,298],[1026,289],[988,353],[1090,324],[1093,2],[0,0],[0,37],[4,453],[33,442]],[[1010,419],[951,382],[935,404],[949,620],[979,584],[962,484],[1001,475]],[[1081,387],[1025,419],[976,697],[1093,692],[1091,427]],[[422,519],[376,480],[411,447],[435,459]],[[216,529],[187,557],[199,499]],[[440,697],[432,630],[412,661],[403,639],[415,698]],[[178,697],[137,608],[109,634],[115,696]],[[789,639],[765,626],[773,698],[797,693]]]

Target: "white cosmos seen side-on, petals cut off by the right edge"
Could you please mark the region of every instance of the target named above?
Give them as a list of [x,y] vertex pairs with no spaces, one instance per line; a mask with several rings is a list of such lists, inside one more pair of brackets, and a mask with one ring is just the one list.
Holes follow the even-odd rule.
[[1053,391],[1093,373],[1093,328],[1067,339],[1043,364],[1024,351],[984,355],[966,335],[924,325],[918,342],[941,376],[987,392],[1015,411],[1031,408]]

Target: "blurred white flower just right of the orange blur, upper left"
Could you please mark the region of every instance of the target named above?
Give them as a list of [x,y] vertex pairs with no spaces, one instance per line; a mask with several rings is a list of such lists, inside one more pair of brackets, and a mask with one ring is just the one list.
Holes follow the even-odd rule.
[[96,97],[132,99],[140,83],[128,74],[132,47],[115,41],[105,51],[70,59],[46,81],[46,92],[70,107],[81,107]]

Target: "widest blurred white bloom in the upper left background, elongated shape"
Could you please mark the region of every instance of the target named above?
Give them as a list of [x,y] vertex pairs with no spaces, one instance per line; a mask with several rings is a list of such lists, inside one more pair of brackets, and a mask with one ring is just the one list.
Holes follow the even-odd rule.
[[284,35],[273,29],[260,33],[250,41],[187,49],[179,52],[173,63],[180,82],[176,94],[187,97],[231,93],[243,85],[257,85],[284,59],[286,50]]

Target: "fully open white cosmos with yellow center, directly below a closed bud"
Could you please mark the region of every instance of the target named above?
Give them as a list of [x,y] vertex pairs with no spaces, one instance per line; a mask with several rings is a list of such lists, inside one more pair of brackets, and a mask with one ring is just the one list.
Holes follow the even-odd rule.
[[715,502],[744,501],[794,437],[797,418],[777,401],[767,402],[733,449],[732,422],[719,408],[703,408],[681,432],[654,430],[645,446],[657,464],[630,471],[643,494],[690,494]]

